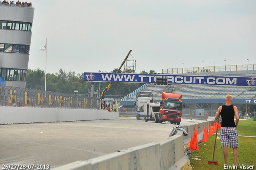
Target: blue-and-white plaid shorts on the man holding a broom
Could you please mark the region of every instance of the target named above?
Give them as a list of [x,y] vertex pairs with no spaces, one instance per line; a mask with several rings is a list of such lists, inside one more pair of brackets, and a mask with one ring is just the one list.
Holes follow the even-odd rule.
[[235,127],[220,128],[220,143],[221,147],[228,147],[228,141],[230,140],[230,148],[238,148],[238,135]]

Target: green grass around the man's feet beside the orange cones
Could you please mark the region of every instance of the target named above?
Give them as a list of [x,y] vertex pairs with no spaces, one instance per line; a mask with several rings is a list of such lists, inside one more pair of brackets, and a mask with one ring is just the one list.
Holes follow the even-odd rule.
[[[256,136],[256,122],[252,120],[242,120],[238,124],[238,135]],[[219,130],[218,130],[219,133]],[[214,161],[218,161],[219,165],[208,165],[208,161],[212,161],[214,142],[216,134],[208,138],[209,142],[204,142],[199,146],[199,151],[193,152],[190,156],[190,164],[195,170],[223,170],[224,157],[223,149],[220,148],[220,139],[216,140],[216,148],[214,154]],[[220,135],[217,135],[220,137]],[[256,138],[238,136],[238,167],[242,165],[254,165],[256,169]],[[234,164],[233,149],[228,147],[228,164]],[[198,158],[201,160],[194,160]]]

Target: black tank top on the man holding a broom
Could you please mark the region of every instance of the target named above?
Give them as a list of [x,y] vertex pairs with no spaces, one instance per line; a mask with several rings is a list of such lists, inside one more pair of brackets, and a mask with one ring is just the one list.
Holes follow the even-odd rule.
[[234,121],[235,111],[233,105],[223,105],[220,115],[222,118],[221,127],[236,127]]

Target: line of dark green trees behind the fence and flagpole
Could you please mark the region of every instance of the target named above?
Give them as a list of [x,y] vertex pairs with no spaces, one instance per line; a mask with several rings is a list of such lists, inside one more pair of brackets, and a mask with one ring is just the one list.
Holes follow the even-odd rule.
[[[112,72],[116,72],[118,68],[115,68]],[[122,71],[122,70],[121,70]],[[98,71],[102,72],[102,71]],[[154,73],[154,70],[150,70],[150,74]],[[145,70],[140,73],[147,74]],[[110,89],[105,93],[105,98],[121,98],[130,94],[143,83],[113,83]],[[26,75],[26,88],[44,90],[45,86],[45,72],[39,68],[27,70]],[[98,90],[100,86],[100,92],[108,86],[108,82],[95,82],[94,90]],[[78,90],[78,94],[87,95],[88,89],[90,89],[90,82],[84,82],[84,73],[78,73],[60,69],[55,74],[46,74],[46,90],[51,92],[60,92],[66,94],[74,94],[74,90]]]

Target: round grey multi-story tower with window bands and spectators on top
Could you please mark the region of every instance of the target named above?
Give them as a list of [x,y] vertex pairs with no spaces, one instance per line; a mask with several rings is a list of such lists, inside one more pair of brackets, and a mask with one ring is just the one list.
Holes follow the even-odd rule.
[[31,6],[0,3],[0,77],[6,86],[26,87],[33,18]]

